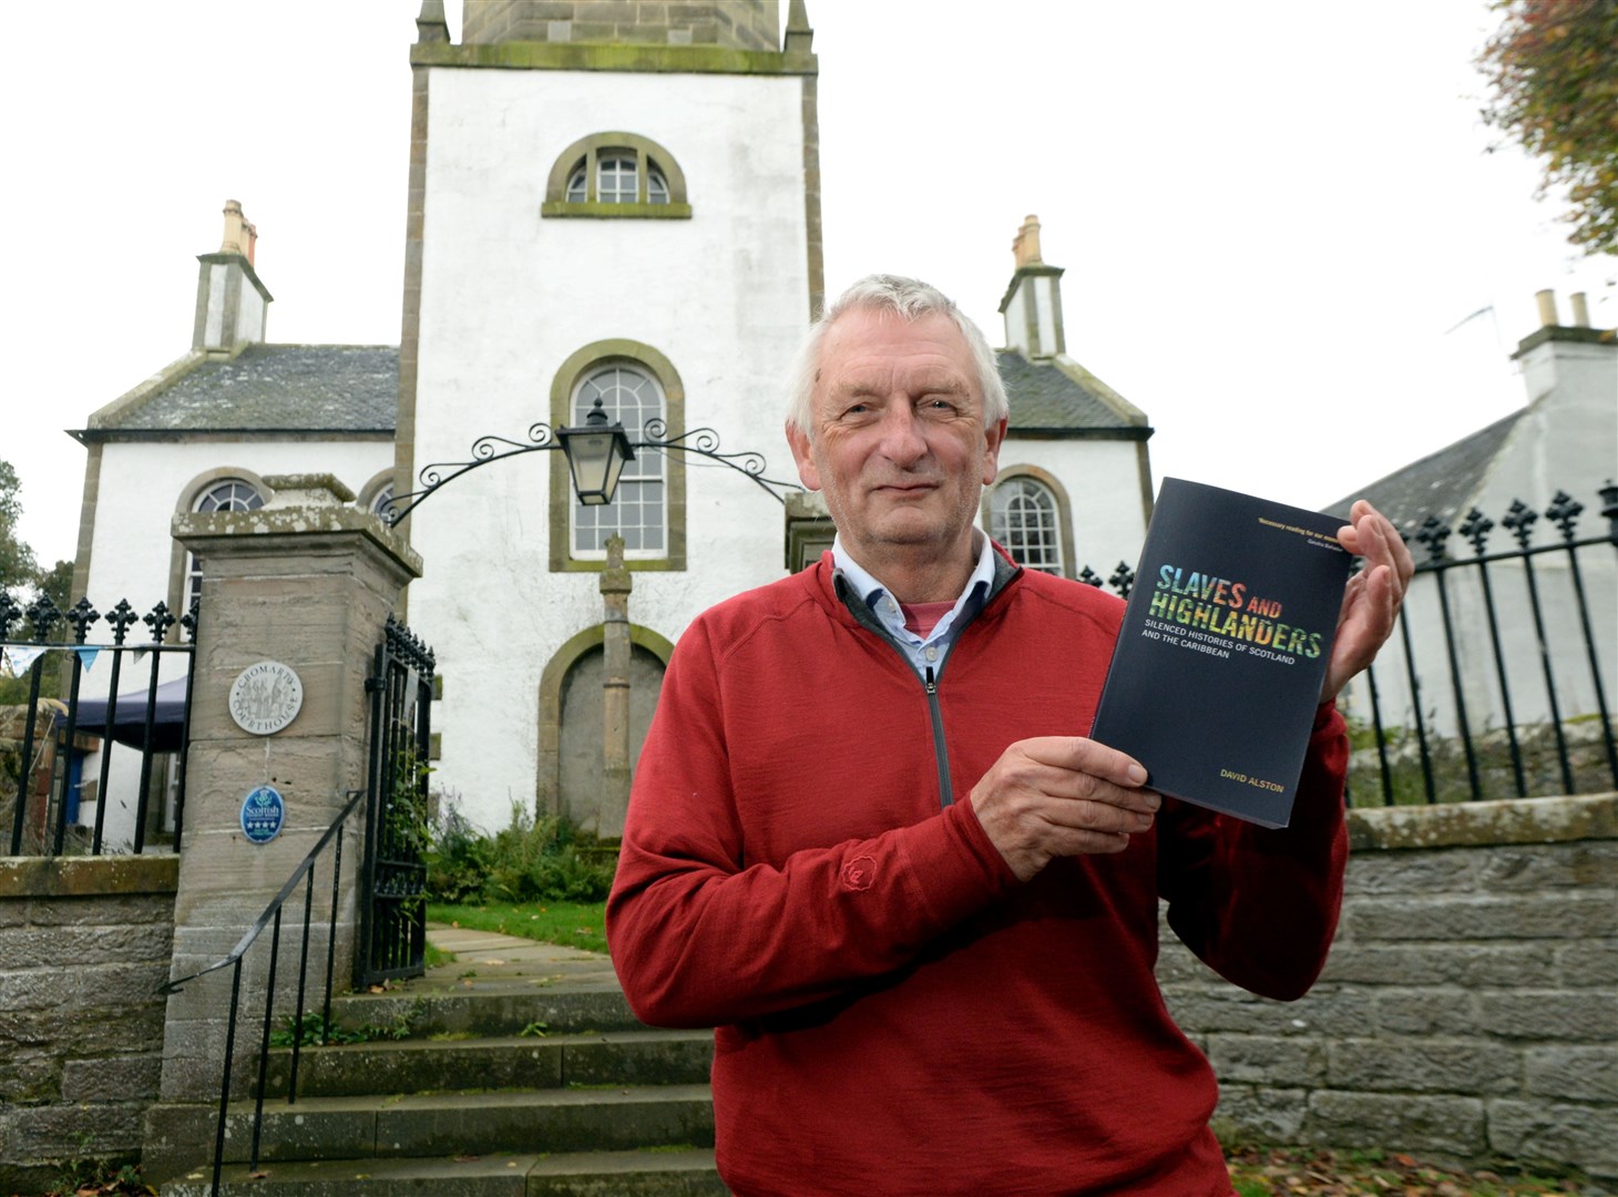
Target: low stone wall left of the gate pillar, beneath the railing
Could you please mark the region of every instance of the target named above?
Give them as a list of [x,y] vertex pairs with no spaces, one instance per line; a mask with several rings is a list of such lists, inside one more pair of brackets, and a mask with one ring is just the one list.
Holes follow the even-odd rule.
[[139,1158],[178,877],[175,856],[0,859],[0,1192]]

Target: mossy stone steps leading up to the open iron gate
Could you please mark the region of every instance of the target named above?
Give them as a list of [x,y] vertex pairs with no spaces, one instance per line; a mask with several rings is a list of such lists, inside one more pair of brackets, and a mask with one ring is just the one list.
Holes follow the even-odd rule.
[[[220,1192],[722,1197],[712,1035],[639,1024],[604,958],[482,953],[383,993],[333,998],[333,1026],[408,1037],[301,1048],[296,1102],[291,1050],[273,1050],[257,1170],[248,1097],[227,1115]],[[197,1145],[214,1142],[215,1116],[209,1105],[149,1116],[149,1157],[186,1165],[163,1197],[210,1192],[212,1160],[199,1163]]]

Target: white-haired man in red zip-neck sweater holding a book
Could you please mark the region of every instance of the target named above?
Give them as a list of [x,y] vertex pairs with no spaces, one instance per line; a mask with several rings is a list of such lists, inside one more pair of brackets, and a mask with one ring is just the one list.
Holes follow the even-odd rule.
[[814,327],[786,435],[825,493],[817,565],[681,637],[607,911],[652,1024],[714,1026],[718,1166],[754,1194],[1231,1192],[1214,1072],[1154,979],[1158,901],[1231,982],[1296,998],[1348,844],[1332,704],[1409,555],[1369,505],[1293,825],[1142,786],[1084,739],[1123,603],[972,526],[1006,400],[914,280]]

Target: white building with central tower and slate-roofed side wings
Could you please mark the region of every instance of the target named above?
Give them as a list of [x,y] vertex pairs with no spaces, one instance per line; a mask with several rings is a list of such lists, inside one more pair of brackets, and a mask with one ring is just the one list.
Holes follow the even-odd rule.
[[[647,421],[659,438],[707,427],[720,451],[762,453],[796,480],[785,372],[824,298],[803,0],[785,37],[773,0],[616,8],[634,19],[469,2],[451,44],[442,2],[422,5],[396,351],[264,343],[252,228],[227,209],[225,244],[201,259],[193,351],[76,434],[89,466],[74,597],[183,608],[175,511],[254,506],[282,474],[403,501],[424,467],[472,461],[479,437],[532,443],[532,425],[578,425],[597,401],[631,440]],[[1066,356],[1060,275],[1031,218],[1002,302],[1011,430],[984,522],[1031,566],[1105,577],[1139,552],[1152,430]],[[623,810],[600,802],[604,537],[625,537],[634,586],[637,747],[691,618],[828,540],[793,514],[675,451],[642,450],[607,508],[579,505],[549,451],[434,490],[401,527],[426,561],[408,621],[442,679],[435,786],[485,828],[521,806],[615,835]]]

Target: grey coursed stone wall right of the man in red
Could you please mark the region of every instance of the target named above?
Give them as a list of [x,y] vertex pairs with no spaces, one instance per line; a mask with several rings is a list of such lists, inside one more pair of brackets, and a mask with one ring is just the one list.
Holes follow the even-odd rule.
[[1618,1176],[1618,796],[1356,810],[1351,835],[1302,1001],[1222,982],[1165,925],[1222,1136]]

